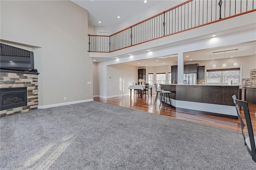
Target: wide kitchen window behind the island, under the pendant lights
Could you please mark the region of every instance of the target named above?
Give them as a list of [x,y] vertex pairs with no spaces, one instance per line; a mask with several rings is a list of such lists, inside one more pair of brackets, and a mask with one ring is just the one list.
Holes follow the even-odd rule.
[[240,68],[207,70],[206,83],[240,84]]

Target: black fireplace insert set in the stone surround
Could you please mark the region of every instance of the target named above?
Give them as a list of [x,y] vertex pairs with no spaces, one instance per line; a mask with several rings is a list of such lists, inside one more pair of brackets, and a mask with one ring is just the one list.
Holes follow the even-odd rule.
[[1,89],[1,111],[27,105],[27,87]]

